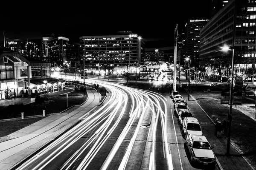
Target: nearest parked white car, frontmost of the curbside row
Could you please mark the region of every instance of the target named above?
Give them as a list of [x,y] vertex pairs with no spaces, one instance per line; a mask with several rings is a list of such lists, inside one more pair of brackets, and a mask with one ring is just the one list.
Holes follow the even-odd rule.
[[192,164],[215,166],[216,157],[212,151],[213,147],[205,136],[188,135],[186,141]]

